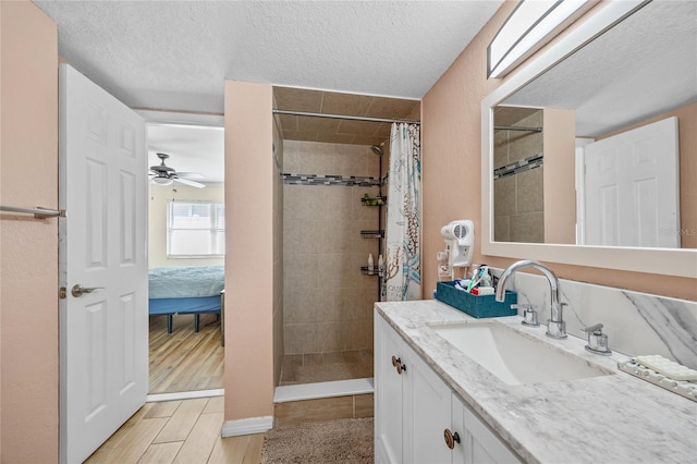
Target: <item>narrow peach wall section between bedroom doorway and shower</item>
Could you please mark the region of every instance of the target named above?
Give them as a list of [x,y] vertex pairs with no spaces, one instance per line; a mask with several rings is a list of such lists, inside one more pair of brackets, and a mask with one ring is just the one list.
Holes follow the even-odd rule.
[[225,81],[225,420],[273,414],[270,84]]

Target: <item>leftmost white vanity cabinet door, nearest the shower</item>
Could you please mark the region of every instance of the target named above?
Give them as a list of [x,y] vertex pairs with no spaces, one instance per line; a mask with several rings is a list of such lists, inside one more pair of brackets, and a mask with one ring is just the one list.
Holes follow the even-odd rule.
[[404,341],[375,315],[375,445],[376,462],[402,463],[402,383],[392,356],[404,361]]

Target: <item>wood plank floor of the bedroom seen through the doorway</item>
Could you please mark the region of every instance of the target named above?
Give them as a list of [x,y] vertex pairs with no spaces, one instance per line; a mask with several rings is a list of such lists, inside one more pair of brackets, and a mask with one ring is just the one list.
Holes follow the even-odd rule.
[[193,315],[174,315],[173,330],[167,333],[167,317],[150,316],[149,393],[223,388],[223,346],[220,319],[200,316],[194,332]]

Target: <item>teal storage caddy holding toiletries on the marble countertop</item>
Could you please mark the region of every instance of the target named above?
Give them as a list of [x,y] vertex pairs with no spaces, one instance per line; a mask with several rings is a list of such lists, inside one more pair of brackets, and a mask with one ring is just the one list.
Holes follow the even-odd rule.
[[494,295],[473,295],[455,289],[455,282],[438,282],[436,285],[436,300],[476,318],[515,316],[518,314],[517,309],[511,307],[518,301],[515,292],[506,291],[503,302],[499,303],[496,301]]

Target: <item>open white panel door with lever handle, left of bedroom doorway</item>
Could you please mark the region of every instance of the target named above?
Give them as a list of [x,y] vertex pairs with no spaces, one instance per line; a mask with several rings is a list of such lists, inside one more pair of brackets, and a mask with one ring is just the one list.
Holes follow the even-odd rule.
[[148,391],[147,157],[143,118],[66,64],[59,85],[59,454],[80,463]]

